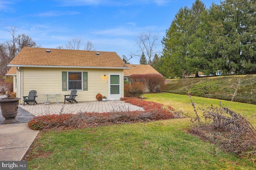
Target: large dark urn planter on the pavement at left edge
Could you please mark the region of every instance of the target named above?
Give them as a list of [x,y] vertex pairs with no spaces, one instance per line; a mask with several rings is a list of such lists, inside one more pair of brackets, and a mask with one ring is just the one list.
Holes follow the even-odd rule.
[[16,116],[18,114],[18,105],[20,98],[15,99],[0,99],[0,107],[3,117],[3,124],[18,122]]

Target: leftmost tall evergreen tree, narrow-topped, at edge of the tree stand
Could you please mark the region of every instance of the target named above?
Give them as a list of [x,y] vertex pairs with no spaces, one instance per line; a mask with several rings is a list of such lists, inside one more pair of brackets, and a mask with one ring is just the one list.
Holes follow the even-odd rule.
[[180,8],[175,15],[170,28],[166,31],[166,36],[162,39],[164,46],[161,56],[162,66],[160,72],[165,77],[182,77],[182,70],[185,70],[186,55],[186,32],[190,9]]

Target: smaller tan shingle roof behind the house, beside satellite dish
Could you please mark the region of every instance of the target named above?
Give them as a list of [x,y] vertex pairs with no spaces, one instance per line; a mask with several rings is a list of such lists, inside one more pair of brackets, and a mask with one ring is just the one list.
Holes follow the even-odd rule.
[[124,70],[124,76],[130,76],[132,74],[160,74],[148,64],[124,64],[124,66],[130,68],[129,70]]

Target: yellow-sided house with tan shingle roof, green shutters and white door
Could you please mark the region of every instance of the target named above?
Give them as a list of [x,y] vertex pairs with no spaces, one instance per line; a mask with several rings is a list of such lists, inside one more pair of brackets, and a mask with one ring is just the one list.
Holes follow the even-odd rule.
[[129,69],[115,52],[35,47],[24,47],[8,66],[16,67],[17,97],[36,90],[38,103],[46,102],[46,93],[59,94],[58,102],[64,102],[64,95],[72,89],[78,90],[78,102],[96,101],[98,93],[108,100],[120,100],[124,70]]

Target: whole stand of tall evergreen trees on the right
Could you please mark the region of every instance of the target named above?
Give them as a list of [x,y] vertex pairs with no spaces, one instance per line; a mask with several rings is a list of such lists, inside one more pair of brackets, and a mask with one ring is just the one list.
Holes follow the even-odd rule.
[[180,77],[182,70],[248,73],[256,69],[256,0],[224,0],[209,10],[196,0],[180,8],[162,44],[166,77]]

